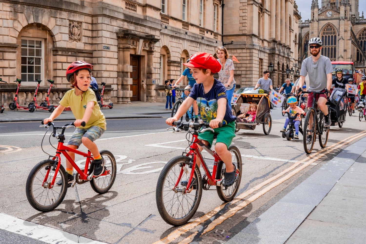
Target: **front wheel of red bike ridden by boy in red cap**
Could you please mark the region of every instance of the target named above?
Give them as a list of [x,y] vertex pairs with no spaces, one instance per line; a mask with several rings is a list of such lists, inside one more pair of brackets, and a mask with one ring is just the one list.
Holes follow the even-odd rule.
[[[198,166],[195,166],[194,175],[197,181],[196,188],[192,189],[190,193],[182,194],[180,192],[173,191],[173,187],[178,180],[178,178],[172,178],[172,177],[178,177],[177,173],[179,174],[182,167],[183,174],[181,177],[181,180],[188,180],[189,174],[191,173],[191,170],[188,170],[188,165],[191,161],[190,157],[187,156],[177,156],[169,160],[167,164],[164,166],[163,170],[161,170],[161,173],[159,175],[157,184],[156,184],[156,205],[157,209],[159,211],[159,214],[161,218],[164,219],[165,222],[167,222],[169,225],[183,225],[186,224],[196,213],[199,203],[201,202],[201,196],[202,196],[202,177],[201,173],[199,171]],[[180,166],[182,165],[182,167]],[[169,174],[169,172],[173,172],[172,174]],[[188,173],[187,173],[188,172]],[[169,179],[170,176],[170,179]],[[170,181],[170,182],[169,182]],[[167,184],[167,185],[165,185]],[[178,184],[178,189],[185,189],[186,187]],[[169,197],[169,193],[172,193],[173,197]],[[182,196],[194,196],[193,198],[186,198],[187,202],[182,203],[184,200],[184,197]],[[165,200],[166,199],[166,200]],[[171,200],[172,202],[168,202]],[[192,200],[193,203],[189,203],[191,206],[188,206],[188,201]],[[165,204],[167,202],[167,205]],[[171,207],[169,206],[171,205]],[[176,206],[176,207],[175,207]],[[184,206],[188,206],[187,211],[183,211],[182,208]],[[174,208],[175,207],[175,208]],[[169,209],[170,208],[170,209]],[[174,209],[173,209],[174,208]],[[180,212],[179,212],[180,211]],[[179,214],[182,215],[182,217],[179,217]],[[185,214],[183,216],[183,214]],[[178,215],[178,217],[176,216]]]

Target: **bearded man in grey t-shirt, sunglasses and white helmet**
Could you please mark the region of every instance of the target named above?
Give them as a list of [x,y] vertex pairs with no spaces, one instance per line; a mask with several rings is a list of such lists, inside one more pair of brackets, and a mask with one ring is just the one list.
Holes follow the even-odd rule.
[[[306,58],[301,65],[300,79],[299,84],[296,86],[296,93],[299,90],[299,87],[305,82],[305,76],[309,75],[309,84],[306,84],[306,88],[308,91],[325,91],[325,89],[329,90],[332,86],[332,63],[330,63],[330,59],[328,57],[320,55],[320,50],[322,49],[322,40],[320,38],[311,38],[309,40],[309,49],[311,56]],[[330,115],[328,113],[328,106],[326,106],[326,102],[328,98],[325,94],[316,95],[318,101],[318,108],[324,113],[324,126],[329,127]],[[307,97],[307,107],[311,107],[313,105],[313,94],[309,94]]]

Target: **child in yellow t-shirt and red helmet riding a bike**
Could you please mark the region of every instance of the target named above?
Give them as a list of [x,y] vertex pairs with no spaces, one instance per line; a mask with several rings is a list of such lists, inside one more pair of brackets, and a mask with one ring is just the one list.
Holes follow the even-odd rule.
[[[66,69],[66,79],[71,84],[71,90],[67,91],[60,101],[60,105],[53,111],[51,116],[44,120],[44,124],[56,119],[64,108],[70,106],[72,114],[75,117],[74,125],[77,127],[69,139],[67,146],[72,149],[78,149],[81,143],[86,146],[94,157],[90,166],[90,175],[100,176],[104,170],[104,159],[99,154],[94,140],[100,138],[106,129],[107,123],[101,112],[93,90],[89,88],[90,76],[93,65],[85,61],[75,61]],[[86,125],[81,126],[85,121]],[[75,160],[75,154],[67,152],[72,160]],[[75,178],[73,168],[70,162],[66,160],[66,172],[68,184],[73,183]],[[62,184],[62,180],[56,183]]]

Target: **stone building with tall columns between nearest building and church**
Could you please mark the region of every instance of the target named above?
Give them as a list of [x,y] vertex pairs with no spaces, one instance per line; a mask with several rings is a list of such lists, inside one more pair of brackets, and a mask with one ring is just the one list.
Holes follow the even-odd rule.
[[294,0],[224,1],[224,46],[235,63],[235,81],[253,86],[268,65],[273,85],[282,85],[285,69],[298,67],[298,23],[301,18]]

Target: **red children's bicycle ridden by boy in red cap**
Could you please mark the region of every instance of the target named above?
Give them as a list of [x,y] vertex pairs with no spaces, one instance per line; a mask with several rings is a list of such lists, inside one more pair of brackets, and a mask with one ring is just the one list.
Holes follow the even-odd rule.
[[[232,162],[236,165],[236,175],[238,176],[235,183],[230,187],[223,187],[221,179],[225,173],[225,164],[221,161],[219,155],[198,139],[198,133],[210,130],[209,123],[184,123],[175,121],[173,128],[175,131],[189,131],[187,136],[192,135],[190,142],[190,151],[183,152],[181,156],[176,156],[169,160],[160,173],[156,185],[156,204],[161,218],[171,225],[183,225],[187,223],[197,211],[201,201],[202,189],[208,190],[210,186],[216,186],[219,198],[224,202],[234,199],[238,192],[241,174],[242,174],[242,158],[239,149],[231,145],[228,150],[231,153]],[[170,129],[168,128],[168,129]],[[192,131],[193,129],[193,131]],[[203,147],[209,154],[214,157],[206,159],[213,161],[212,174],[208,169],[205,158],[202,157],[198,149],[198,145]],[[205,174],[201,177],[201,172],[196,164],[197,159],[202,162]],[[191,181],[195,183],[191,185]]]

